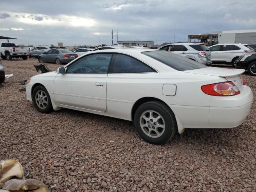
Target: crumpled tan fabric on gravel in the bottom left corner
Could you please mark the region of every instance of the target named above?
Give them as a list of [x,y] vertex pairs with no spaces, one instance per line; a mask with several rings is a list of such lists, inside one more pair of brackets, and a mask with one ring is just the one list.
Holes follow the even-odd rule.
[[21,164],[16,160],[0,162],[0,192],[47,192],[46,185],[34,179],[24,179]]

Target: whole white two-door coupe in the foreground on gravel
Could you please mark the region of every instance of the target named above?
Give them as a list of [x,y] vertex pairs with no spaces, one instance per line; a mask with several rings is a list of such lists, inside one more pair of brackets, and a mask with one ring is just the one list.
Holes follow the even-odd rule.
[[164,144],[176,130],[240,125],[253,98],[243,72],[162,50],[100,50],[33,76],[26,97],[43,113],[69,108],[134,121],[144,140]]

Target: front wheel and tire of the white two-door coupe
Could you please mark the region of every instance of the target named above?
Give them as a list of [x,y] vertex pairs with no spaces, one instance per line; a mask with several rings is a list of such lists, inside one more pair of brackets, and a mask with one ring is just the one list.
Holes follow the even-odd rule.
[[50,113],[52,111],[52,102],[44,86],[39,85],[33,90],[32,100],[35,108],[41,113]]

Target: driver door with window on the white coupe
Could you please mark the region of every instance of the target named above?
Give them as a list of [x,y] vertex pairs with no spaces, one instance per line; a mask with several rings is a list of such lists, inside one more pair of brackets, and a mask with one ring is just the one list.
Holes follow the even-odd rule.
[[56,102],[75,110],[106,111],[108,67],[112,54],[90,54],[76,60],[53,82]]

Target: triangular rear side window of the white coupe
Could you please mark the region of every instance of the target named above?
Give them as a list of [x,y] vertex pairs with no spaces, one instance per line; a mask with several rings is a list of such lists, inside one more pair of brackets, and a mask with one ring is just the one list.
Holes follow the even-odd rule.
[[114,54],[109,73],[149,73],[156,72],[139,60],[124,54]]

